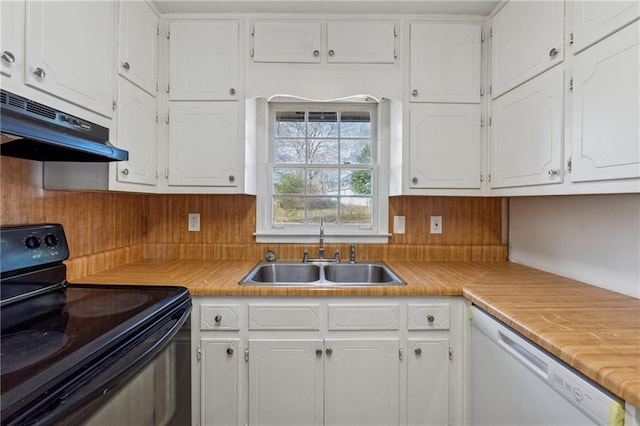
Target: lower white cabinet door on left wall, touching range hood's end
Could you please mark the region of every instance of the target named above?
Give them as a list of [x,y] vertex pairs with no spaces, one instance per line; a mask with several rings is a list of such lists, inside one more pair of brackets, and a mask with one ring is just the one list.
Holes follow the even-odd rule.
[[155,185],[158,170],[158,107],[156,98],[118,81],[118,147],[129,151],[129,160],[116,165],[118,182]]

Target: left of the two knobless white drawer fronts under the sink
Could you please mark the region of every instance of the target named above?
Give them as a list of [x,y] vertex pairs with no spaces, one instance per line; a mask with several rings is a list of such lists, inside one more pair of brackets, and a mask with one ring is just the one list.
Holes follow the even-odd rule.
[[319,330],[320,306],[249,305],[249,330]]

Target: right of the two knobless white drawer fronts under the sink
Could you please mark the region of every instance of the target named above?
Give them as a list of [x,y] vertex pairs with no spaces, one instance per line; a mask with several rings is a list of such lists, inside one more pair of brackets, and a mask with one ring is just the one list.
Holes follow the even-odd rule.
[[399,307],[329,304],[329,330],[398,330]]

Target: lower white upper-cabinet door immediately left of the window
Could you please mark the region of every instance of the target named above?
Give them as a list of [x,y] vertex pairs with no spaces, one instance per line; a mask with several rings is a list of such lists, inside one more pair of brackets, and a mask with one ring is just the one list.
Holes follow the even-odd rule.
[[169,117],[168,184],[237,186],[237,103],[171,102]]

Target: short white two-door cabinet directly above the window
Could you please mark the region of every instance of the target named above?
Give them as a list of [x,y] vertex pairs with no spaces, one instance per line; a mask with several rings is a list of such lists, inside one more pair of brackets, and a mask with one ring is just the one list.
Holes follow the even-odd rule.
[[253,62],[393,64],[396,58],[394,22],[256,21],[252,36]]

